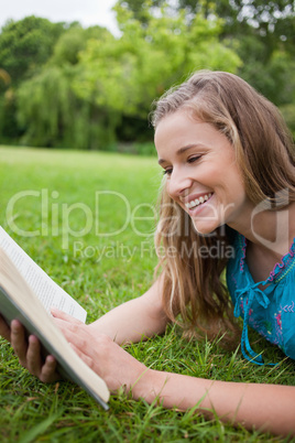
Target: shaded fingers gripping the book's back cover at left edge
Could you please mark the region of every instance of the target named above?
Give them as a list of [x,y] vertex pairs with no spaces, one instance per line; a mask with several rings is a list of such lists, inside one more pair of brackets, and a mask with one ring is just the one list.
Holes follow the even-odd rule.
[[48,355],[44,361],[39,339],[34,335],[30,335],[29,339],[26,339],[24,328],[18,320],[13,320],[9,327],[0,316],[0,335],[11,343],[20,364],[33,376],[36,376],[43,382],[61,379],[56,371],[55,358]]

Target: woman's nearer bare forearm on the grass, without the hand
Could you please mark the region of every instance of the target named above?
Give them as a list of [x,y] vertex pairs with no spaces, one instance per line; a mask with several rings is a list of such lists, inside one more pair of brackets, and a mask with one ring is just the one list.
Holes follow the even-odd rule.
[[197,406],[207,418],[218,417],[248,430],[295,435],[295,387],[208,380],[146,370],[132,396],[149,403],[157,397],[165,408]]

